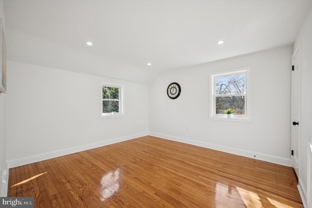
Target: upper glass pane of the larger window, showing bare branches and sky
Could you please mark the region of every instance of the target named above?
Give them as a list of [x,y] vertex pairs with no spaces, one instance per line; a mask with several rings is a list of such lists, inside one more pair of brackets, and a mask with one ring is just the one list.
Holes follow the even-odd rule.
[[245,74],[215,78],[216,95],[245,94]]

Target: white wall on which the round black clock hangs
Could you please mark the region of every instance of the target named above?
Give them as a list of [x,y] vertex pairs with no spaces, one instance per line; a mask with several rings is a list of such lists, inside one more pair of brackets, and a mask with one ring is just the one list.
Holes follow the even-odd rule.
[[[291,58],[288,46],[162,74],[150,85],[150,134],[290,166]],[[209,73],[244,66],[251,122],[209,120]],[[176,100],[166,94],[172,82],[181,85]]]

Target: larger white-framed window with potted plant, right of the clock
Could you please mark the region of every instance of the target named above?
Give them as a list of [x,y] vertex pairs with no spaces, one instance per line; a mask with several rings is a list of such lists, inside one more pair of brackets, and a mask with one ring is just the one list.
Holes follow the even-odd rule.
[[224,111],[234,109],[231,120],[250,120],[250,67],[210,73],[211,119],[227,119]]

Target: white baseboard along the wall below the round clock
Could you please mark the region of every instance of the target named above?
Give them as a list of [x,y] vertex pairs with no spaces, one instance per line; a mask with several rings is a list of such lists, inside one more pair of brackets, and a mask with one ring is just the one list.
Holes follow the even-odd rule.
[[180,138],[180,137],[175,137],[175,136],[170,136],[170,135],[164,135],[164,134],[159,134],[159,133],[155,133],[155,132],[150,132],[149,135],[159,137],[159,138],[163,138],[163,139],[176,141],[176,142],[186,143],[189,145],[201,146],[201,147],[214,149],[214,150],[218,150],[218,151],[222,151],[222,152],[226,152],[226,153],[231,153],[231,154],[235,154],[235,155],[249,157],[249,158],[253,158],[256,160],[266,161],[266,162],[270,162],[270,163],[274,163],[274,164],[278,164],[278,165],[291,166],[291,159],[287,159],[287,158],[275,157],[272,155],[266,155],[266,154],[261,154],[258,152],[246,151],[246,150],[232,148],[232,147],[228,147],[228,146],[220,146],[220,145],[214,145],[214,144],[205,143],[205,142],[198,142],[195,140],[189,140],[189,139],[185,139],[185,138]]

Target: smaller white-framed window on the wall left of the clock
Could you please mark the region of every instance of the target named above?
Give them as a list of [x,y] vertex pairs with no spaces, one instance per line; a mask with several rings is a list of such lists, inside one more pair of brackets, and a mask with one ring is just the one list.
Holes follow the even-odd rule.
[[101,117],[124,115],[124,85],[101,82]]

